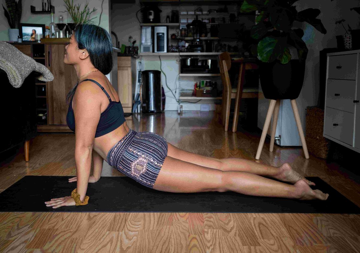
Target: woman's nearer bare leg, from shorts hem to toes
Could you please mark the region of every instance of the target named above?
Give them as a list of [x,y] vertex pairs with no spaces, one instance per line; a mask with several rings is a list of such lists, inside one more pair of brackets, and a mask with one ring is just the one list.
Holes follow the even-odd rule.
[[248,172],[222,171],[167,156],[160,169],[155,190],[166,192],[234,191],[267,197],[326,200],[328,195],[312,190],[300,179],[294,185]]

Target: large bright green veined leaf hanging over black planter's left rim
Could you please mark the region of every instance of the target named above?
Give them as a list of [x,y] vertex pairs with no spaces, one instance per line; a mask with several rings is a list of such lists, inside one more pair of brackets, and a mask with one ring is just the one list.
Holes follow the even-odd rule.
[[285,45],[284,38],[267,36],[257,44],[257,58],[263,62],[273,62],[284,53]]

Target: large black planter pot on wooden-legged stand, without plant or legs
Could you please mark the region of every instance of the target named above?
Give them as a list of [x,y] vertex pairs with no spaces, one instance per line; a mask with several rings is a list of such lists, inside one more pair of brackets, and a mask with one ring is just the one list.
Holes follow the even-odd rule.
[[290,60],[287,64],[278,61],[259,62],[260,83],[267,99],[296,99],[302,89],[305,63]]

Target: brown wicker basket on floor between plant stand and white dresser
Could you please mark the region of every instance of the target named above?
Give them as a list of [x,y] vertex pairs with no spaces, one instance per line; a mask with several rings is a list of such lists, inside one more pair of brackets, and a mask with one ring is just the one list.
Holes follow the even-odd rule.
[[310,153],[326,159],[329,153],[330,141],[323,137],[324,110],[318,106],[306,107],[306,145]]

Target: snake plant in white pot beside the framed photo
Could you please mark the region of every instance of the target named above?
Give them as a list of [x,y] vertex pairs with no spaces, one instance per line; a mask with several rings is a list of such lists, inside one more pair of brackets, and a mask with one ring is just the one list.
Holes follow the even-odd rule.
[[22,4],[21,0],[16,2],[15,0],[6,0],[6,7],[7,10],[4,9],[4,15],[6,19],[8,19],[8,23],[10,26],[10,29],[8,29],[9,32],[9,41],[17,41],[19,36],[19,23],[21,19],[21,9]]

